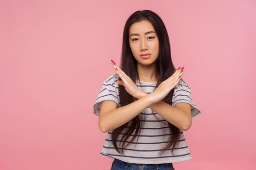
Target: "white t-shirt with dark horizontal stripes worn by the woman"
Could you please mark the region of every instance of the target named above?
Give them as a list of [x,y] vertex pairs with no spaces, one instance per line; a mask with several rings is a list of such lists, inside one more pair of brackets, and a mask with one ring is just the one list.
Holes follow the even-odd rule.
[[[99,110],[103,101],[114,101],[119,105],[118,93],[118,74],[109,76],[102,84],[102,88],[98,93],[96,102],[94,103],[94,114],[99,116]],[[136,85],[146,93],[152,93],[157,83],[154,82],[136,82]],[[175,106],[179,102],[186,102],[191,105],[192,119],[197,118],[201,111],[197,108],[196,104],[192,101],[190,87],[181,78],[178,85],[174,89],[172,105]],[[171,114],[171,113],[170,113]],[[192,159],[187,142],[183,132],[180,130],[180,140],[178,146],[171,152],[172,146],[168,151],[163,154],[158,154],[159,150],[168,143],[170,136],[167,120],[160,117],[151,108],[147,107],[144,113],[139,116],[144,116],[142,125],[140,127],[139,135],[135,140],[124,149],[124,154],[119,154],[112,143],[111,134],[112,130],[107,133],[104,145],[100,155],[105,157],[116,158],[121,161],[137,164],[163,164],[171,162],[180,162]],[[157,119],[156,117],[159,119]],[[139,117],[140,118],[140,117]],[[135,132],[133,132],[134,134]],[[120,136],[117,139],[119,146]],[[129,140],[132,138],[130,136]],[[121,141],[122,142],[122,141]]]

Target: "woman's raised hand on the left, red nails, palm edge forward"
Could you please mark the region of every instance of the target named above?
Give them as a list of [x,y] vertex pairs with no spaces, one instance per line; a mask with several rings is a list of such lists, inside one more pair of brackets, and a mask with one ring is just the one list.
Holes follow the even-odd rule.
[[127,76],[118,66],[117,64],[111,60],[113,68],[117,71],[118,76],[120,77],[121,80],[118,80],[117,83],[118,85],[123,85],[125,90],[132,95],[133,97],[138,99],[138,96],[141,96],[144,91],[140,88],[138,88],[137,85],[134,84],[132,79]]

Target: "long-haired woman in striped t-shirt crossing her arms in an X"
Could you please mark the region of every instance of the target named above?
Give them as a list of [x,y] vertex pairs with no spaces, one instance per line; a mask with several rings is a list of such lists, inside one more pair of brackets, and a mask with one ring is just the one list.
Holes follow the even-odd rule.
[[182,131],[200,115],[190,87],[174,68],[167,30],[150,10],[126,21],[120,68],[109,76],[94,103],[98,125],[108,132],[101,155],[111,170],[174,170],[192,158]]

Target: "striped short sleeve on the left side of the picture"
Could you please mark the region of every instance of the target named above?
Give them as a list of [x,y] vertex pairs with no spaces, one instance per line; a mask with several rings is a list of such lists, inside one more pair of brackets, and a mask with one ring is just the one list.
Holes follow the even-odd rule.
[[93,105],[94,114],[99,116],[99,111],[101,107],[101,103],[104,101],[113,101],[119,105],[118,98],[118,84],[115,82],[115,75],[109,76],[106,80],[104,80],[101,89],[98,92],[98,96]]

